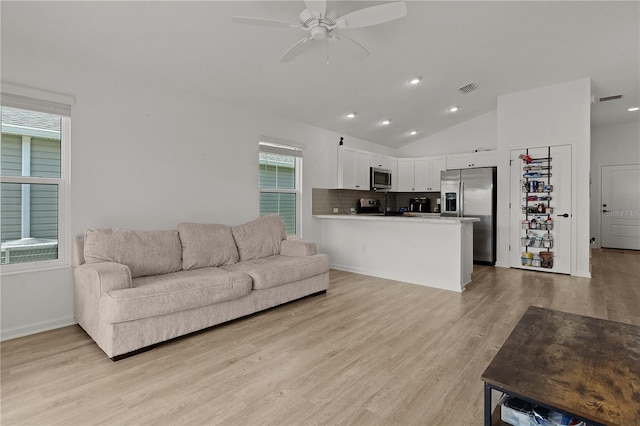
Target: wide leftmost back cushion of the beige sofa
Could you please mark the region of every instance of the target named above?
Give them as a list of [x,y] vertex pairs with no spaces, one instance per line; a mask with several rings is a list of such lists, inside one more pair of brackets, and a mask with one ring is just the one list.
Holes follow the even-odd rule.
[[87,263],[116,262],[127,265],[131,277],[168,274],[182,269],[182,245],[178,231],[129,231],[89,229],[84,237]]

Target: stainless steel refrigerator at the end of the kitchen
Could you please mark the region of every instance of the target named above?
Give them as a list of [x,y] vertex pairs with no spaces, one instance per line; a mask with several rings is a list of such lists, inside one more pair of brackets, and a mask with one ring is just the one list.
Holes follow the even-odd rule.
[[440,174],[441,215],[477,217],[473,261],[496,263],[496,168],[446,170]]

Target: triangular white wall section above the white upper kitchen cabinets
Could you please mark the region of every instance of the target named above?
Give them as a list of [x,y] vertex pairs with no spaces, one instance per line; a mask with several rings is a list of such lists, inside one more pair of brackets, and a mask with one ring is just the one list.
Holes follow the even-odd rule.
[[497,149],[497,112],[490,111],[398,148],[396,157],[459,154]]

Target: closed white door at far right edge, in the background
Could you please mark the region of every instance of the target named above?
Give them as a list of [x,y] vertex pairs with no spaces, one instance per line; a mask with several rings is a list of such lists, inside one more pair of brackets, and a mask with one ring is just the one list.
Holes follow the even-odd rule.
[[640,250],[640,164],[602,166],[602,247]]

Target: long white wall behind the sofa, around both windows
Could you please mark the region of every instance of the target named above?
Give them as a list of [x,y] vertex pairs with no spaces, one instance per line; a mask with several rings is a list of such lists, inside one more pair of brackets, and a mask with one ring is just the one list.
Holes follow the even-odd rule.
[[[236,225],[259,214],[260,135],[304,147],[302,233],[317,239],[311,188],[336,186],[341,135],[155,86],[3,40],[3,81],[75,97],[71,233],[88,227]],[[150,79],[151,80],[151,79]],[[361,149],[393,150],[345,137]],[[2,339],[73,324],[71,268],[2,275]]]

